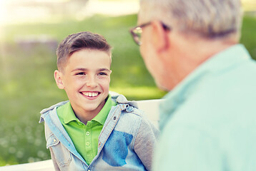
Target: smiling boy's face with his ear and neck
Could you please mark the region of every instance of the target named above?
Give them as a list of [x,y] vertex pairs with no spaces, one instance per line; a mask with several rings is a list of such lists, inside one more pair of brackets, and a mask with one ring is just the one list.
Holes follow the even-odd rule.
[[76,115],[97,115],[109,94],[111,72],[107,52],[82,49],[69,56],[63,71],[55,71],[54,77]]

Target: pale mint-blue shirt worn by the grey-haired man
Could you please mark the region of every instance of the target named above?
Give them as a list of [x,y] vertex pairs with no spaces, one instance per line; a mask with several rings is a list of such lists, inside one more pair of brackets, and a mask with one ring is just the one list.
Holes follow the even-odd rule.
[[255,170],[256,64],[244,46],[212,56],[164,98],[154,170]]

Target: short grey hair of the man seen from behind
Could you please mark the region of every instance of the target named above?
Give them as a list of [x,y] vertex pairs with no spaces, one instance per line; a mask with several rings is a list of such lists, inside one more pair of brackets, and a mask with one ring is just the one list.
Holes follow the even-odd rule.
[[240,0],[141,0],[140,15],[206,38],[240,36],[242,22]]

